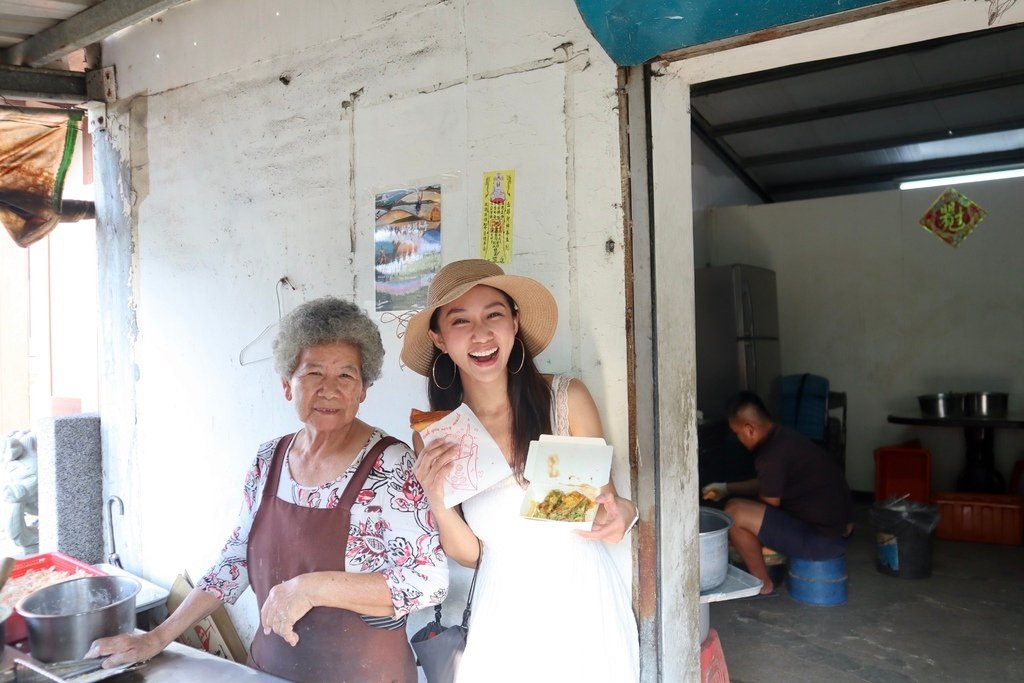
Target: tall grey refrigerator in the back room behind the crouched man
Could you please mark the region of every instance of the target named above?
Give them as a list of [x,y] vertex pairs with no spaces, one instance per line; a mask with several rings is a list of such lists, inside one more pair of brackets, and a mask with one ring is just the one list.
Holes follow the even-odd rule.
[[705,420],[725,418],[737,391],[754,391],[777,421],[781,354],[775,272],[752,265],[697,268],[697,410]]

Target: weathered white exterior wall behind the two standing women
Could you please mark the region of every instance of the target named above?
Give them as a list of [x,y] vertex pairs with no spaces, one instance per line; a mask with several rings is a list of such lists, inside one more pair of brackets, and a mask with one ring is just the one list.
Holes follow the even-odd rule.
[[[559,303],[542,370],[587,382],[629,492],[615,69],[570,0],[202,0],[103,54],[130,109],[111,123],[131,127],[137,229],[135,446],[105,454],[110,493],[138,501],[118,546],[131,567],[165,585],[202,572],[256,446],[296,428],[270,364],[239,365],[276,319],[278,280],[298,288],[286,310],[331,293],[372,311],[374,193],[440,181],[444,260],[476,256],[485,170],[517,174],[507,269]],[[408,437],[425,380],[381,328],[385,375],[360,417]],[[629,572],[629,547],[614,552]],[[252,605],[232,617],[247,639]]]

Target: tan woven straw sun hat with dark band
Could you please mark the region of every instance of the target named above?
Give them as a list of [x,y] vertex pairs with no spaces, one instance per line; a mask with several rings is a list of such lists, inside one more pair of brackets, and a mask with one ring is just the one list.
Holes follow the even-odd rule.
[[411,317],[406,327],[401,361],[407,368],[423,376],[430,374],[434,354],[434,344],[427,336],[430,316],[477,285],[494,287],[512,297],[519,311],[519,338],[531,355],[548,346],[558,326],[558,306],[551,292],[536,280],[506,275],[496,263],[470,258],[449,263],[434,275],[427,290],[427,307]]

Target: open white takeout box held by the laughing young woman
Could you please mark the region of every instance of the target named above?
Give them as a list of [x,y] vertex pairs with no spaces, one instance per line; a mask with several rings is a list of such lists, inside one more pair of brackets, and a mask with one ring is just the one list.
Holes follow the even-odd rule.
[[597,504],[587,510],[582,521],[538,519],[537,505],[552,490],[579,492],[591,502],[611,476],[611,446],[602,438],[542,434],[530,441],[523,471],[529,486],[523,494],[519,516],[552,528],[590,530],[597,516]]

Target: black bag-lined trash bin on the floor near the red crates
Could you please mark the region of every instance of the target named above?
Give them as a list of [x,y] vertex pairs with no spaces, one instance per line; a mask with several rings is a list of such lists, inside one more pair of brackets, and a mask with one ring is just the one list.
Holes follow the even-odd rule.
[[879,571],[900,579],[925,579],[932,573],[932,531],[939,523],[935,506],[905,498],[871,506]]

